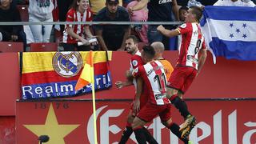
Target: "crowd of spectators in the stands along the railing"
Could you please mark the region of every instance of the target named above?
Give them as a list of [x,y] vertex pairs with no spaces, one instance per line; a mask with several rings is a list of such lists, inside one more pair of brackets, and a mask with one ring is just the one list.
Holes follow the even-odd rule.
[[[1,0],[0,22],[183,22],[190,6],[254,7],[254,3],[250,0]],[[177,26],[165,27],[174,30]],[[125,50],[125,39],[135,35],[139,46],[163,42],[166,50],[178,50],[180,38],[167,38],[156,29],[155,25],[0,26],[0,41],[23,42],[24,51],[29,51],[30,43],[34,42],[55,42],[61,48],[58,50]]]

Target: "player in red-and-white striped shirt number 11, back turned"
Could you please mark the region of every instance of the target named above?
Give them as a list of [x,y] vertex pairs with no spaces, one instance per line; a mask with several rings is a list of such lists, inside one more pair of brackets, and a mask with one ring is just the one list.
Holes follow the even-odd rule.
[[[143,80],[146,90],[148,91],[148,102],[139,110],[134,118],[132,128],[134,130],[138,143],[146,144],[146,131],[143,129],[147,122],[151,122],[158,115],[163,125],[169,128],[178,138],[185,143],[190,143],[188,139],[182,138],[179,126],[171,121],[170,101],[166,98],[166,74],[161,62],[154,61],[154,48],[144,46],[142,48],[142,60],[146,64],[134,69],[132,75],[134,78]],[[136,93],[135,101],[139,101],[141,91]]]

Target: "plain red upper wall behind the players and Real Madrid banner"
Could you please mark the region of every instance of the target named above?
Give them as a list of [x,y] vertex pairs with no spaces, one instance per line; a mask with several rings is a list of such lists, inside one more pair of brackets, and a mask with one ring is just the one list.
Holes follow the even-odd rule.
[[[166,51],[165,58],[175,64],[178,52]],[[202,72],[195,79],[184,98],[256,98],[254,82],[256,82],[256,61],[245,62],[218,58],[217,64],[207,58]],[[113,82],[125,80],[130,54],[114,52],[110,62]],[[15,100],[21,96],[18,54],[0,54],[0,115],[15,115]],[[113,86],[110,90],[98,91],[98,99],[130,99],[134,96],[134,87],[118,90]],[[90,99],[86,94],[75,99]]]

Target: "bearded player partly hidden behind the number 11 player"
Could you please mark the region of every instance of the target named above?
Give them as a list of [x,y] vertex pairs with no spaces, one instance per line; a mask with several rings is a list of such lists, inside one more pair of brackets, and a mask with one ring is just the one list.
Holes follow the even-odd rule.
[[[126,38],[125,42],[125,48],[127,53],[131,54],[132,57],[130,58],[130,71],[133,71],[138,66],[142,66],[144,62],[142,62],[141,53],[138,50],[138,38],[136,38],[134,35],[130,35],[128,38]],[[130,86],[134,84],[135,90],[140,89],[142,90],[143,82],[137,82],[136,78],[133,78],[132,80],[127,79],[126,82],[115,82],[118,89],[121,89],[123,86]],[[146,90],[145,90],[146,92]],[[140,97],[139,101],[137,103],[132,103],[130,106],[130,113],[128,114],[127,123],[126,123],[126,129],[122,133],[122,138],[119,143],[126,143],[128,139],[130,138],[130,135],[133,133],[133,130],[131,128],[131,123],[134,121],[134,118],[136,114],[138,113],[138,110],[142,108],[142,106],[145,105],[147,102],[147,97],[145,93],[142,93],[142,96]],[[146,130],[146,128],[143,128]],[[147,141],[150,143],[157,143],[154,138],[151,136],[150,132],[146,130],[147,133]]]

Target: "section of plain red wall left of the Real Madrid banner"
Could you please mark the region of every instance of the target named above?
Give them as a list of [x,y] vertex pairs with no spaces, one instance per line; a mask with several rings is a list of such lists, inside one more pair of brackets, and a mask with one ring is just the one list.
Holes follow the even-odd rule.
[[15,115],[15,101],[22,90],[18,53],[1,53],[0,66],[0,116]]

